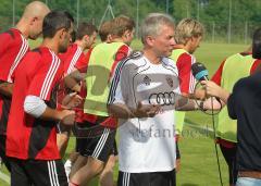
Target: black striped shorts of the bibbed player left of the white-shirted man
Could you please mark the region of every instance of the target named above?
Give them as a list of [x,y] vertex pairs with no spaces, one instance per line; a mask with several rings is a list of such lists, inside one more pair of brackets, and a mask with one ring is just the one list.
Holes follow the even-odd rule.
[[[113,152],[116,129],[92,123],[85,123],[77,127],[78,129],[85,131],[76,140],[76,150],[78,150],[79,154],[107,162],[108,158]],[[86,136],[83,134],[86,134]]]

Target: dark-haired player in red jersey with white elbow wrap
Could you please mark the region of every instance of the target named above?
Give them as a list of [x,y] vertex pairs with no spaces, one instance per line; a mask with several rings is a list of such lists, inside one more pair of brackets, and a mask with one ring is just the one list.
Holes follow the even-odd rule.
[[67,185],[57,147],[57,122],[74,124],[74,111],[57,110],[57,88],[63,75],[58,53],[65,52],[73,17],[53,11],[42,23],[44,41],[15,70],[13,99],[7,128],[11,185]]

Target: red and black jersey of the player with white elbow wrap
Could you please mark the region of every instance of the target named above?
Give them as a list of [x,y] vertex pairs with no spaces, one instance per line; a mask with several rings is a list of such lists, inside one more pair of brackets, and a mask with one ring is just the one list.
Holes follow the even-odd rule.
[[36,119],[24,112],[25,97],[37,96],[52,109],[63,65],[46,47],[28,52],[14,73],[15,84],[7,129],[7,156],[17,159],[60,159],[57,122]]

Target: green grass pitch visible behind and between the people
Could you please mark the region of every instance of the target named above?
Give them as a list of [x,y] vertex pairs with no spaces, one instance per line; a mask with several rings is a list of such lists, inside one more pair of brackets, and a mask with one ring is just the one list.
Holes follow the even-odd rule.
[[[35,45],[35,44],[34,44]],[[224,44],[202,44],[195,53],[197,61],[206,64],[210,76],[219,67],[220,63],[228,55],[244,51],[248,46],[245,45],[224,45]],[[133,42],[134,49],[140,49],[140,42]],[[182,152],[182,170],[177,174],[178,186],[219,186],[219,172],[214,151],[214,142],[211,133],[198,129],[198,126],[211,128],[211,117],[201,112],[188,112],[186,121],[194,125],[185,125],[183,137],[179,142]],[[70,140],[67,152],[73,149],[74,137]],[[221,170],[224,185],[228,185],[227,168],[224,159],[221,159]],[[67,156],[67,154],[66,154]],[[7,173],[4,168],[0,171]],[[8,173],[7,173],[8,174]],[[114,171],[114,179],[117,177],[117,169]],[[0,185],[7,184],[0,179]],[[97,186],[95,181],[91,186]]]

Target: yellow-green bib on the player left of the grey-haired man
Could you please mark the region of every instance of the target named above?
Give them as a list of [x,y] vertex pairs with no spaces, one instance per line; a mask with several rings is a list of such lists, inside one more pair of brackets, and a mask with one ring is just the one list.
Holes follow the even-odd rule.
[[116,61],[116,52],[124,45],[123,42],[102,42],[91,51],[86,77],[85,113],[108,116],[107,101],[110,91],[111,70]]

